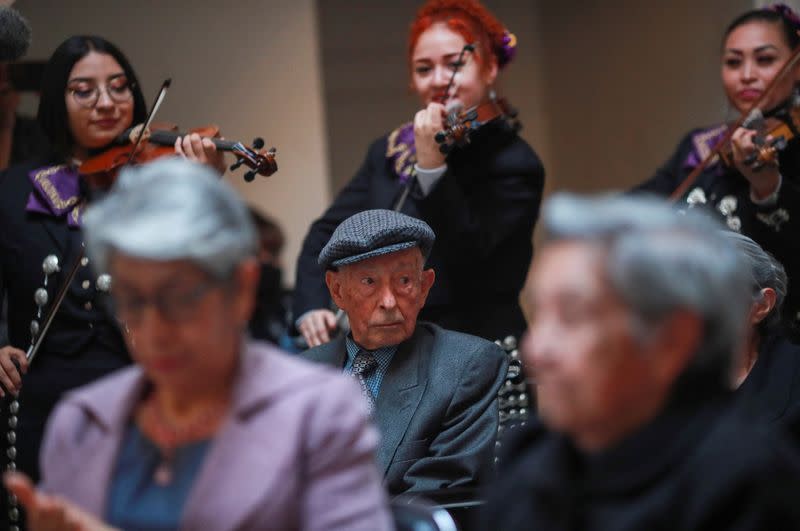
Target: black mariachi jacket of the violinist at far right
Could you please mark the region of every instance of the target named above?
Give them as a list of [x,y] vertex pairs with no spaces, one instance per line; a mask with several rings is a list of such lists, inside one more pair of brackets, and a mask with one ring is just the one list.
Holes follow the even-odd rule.
[[[667,196],[697,166],[714,146],[722,129],[695,129],[687,134],[675,153],[649,180],[634,190]],[[800,312],[800,146],[790,143],[780,154],[783,184],[777,203],[760,206],[750,199],[750,183],[735,168],[710,165],[689,186],[679,204],[705,207],[728,228],[749,236],[783,264],[789,276],[784,303],[787,325],[798,336]]]

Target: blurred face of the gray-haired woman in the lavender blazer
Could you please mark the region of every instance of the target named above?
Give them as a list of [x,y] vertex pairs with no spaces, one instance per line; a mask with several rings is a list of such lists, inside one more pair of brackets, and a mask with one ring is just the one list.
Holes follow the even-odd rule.
[[227,283],[185,260],[117,254],[110,269],[128,348],[154,384],[196,392],[230,375],[252,311],[255,260]]

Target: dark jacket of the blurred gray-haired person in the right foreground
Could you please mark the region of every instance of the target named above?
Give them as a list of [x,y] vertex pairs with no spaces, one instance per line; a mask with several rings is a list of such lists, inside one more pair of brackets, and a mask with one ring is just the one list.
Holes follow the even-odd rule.
[[599,454],[535,423],[508,449],[480,529],[800,529],[800,460],[728,396],[673,403]]

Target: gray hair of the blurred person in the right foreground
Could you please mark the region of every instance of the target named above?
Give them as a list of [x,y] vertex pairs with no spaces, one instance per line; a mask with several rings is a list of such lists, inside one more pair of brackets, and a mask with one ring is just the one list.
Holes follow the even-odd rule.
[[585,240],[604,251],[604,273],[640,340],[677,310],[698,315],[702,337],[684,374],[727,382],[752,298],[749,271],[720,224],[655,198],[568,194],[546,203],[543,222],[551,241]]

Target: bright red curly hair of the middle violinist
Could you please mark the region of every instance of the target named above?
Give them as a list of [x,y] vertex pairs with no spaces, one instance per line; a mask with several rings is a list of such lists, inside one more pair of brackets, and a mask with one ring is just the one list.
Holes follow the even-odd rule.
[[489,67],[490,62],[483,58],[494,55],[498,66],[505,63],[500,55],[503,36],[506,31],[494,15],[477,0],[429,0],[417,11],[408,35],[408,64],[419,36],[437,22],[447,26],[464,37],[468,43],[477,43],[475,59],[481,69]]

